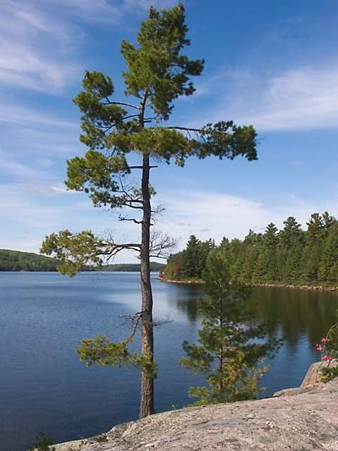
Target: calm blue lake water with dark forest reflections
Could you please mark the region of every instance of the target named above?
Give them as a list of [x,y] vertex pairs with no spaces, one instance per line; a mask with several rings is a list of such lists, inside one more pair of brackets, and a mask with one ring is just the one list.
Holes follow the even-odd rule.
[[[202,380],[178,366],[183,340],[194,341],[200,326],[197,285],[155,280],[155,318],[170,323],[155,330],[158,412],[191,402],[190,385]],[[338,293],[255,288],[260,316],[276,321],[285,336],[268,362],[267,395],[298,386],[318,360],[315,344],[334,322]],[[120,316],[140,308],[138,273],[0,273],[0,442],[22,451],[43,431],[53,442],[104,432],[138,417],[137,370],[86,368],[75,348],[81,338],[128,335]],[[124,334],[124,335],[123,335]]]

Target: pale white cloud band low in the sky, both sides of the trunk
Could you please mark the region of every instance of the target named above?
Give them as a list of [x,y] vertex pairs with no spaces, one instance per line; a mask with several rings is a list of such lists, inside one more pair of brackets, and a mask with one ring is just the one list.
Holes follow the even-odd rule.
[[[1,185],[0,248],[39,250],[45,235],[64,228],[73,231],[91,229],[102,234],[112,226],[116,241],[138,240],[140,228],[118,221],[118,213],[95,209],[83,193],[66,191],[61,183],[11,183]],[[283,227],[288,216],[295,216],[302,226],[314,211],[338,211],[337,201],[323,200],[313,206],[292,194],[281,193],[283,201],[271,206],[267,201],[231,196],[218,191],[185,190],[161,193],[166,212],[158,218],[156,229],[178,238],[178,250],[185,247],[189,235],[219,243],[227,238],[244,238],[249,228],[265,230],[273,222]],[[127,213],[127,212],[126,212]],[[6,226],[9,224],[9,227]],[[20,238],[17,238],[17,237]],[[128,262],[133,253],[121,253],[116,262]]]

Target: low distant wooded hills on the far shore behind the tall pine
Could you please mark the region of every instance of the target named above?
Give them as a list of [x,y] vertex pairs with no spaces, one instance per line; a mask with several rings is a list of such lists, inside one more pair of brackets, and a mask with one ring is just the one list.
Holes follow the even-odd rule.
[[[20,250],[0,249],[0,271],[56,271],[57,265],[58,260],[55,258]],[[163,263],[150,263],[151,271],[161,271],[164,267]],[[138,272],[140,263],[116,263],[99,270]]]

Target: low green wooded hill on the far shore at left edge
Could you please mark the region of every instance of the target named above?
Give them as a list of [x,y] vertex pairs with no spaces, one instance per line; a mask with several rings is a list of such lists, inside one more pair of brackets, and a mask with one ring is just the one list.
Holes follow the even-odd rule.
[[19,250],[0,249],[0,271],[56,271],[58,261]]

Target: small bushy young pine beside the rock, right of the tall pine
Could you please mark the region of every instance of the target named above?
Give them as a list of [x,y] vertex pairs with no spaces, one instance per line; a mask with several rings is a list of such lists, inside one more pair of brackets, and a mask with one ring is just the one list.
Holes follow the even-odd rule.
[[[224,243],[223,243],[224,247]],[[277,340],[267,339],[267,323],[250,323],[253,305],[250,287],[232,277],[223,250],[212,251],[205,272],[205,298],[199,302],[203,328],[198,344],[183,342],[185,368],[202,373],[208,387],[191,387],[196,405],[253,399],[262,391],[260,377],[267,371],[265,355],[277,348]]]

